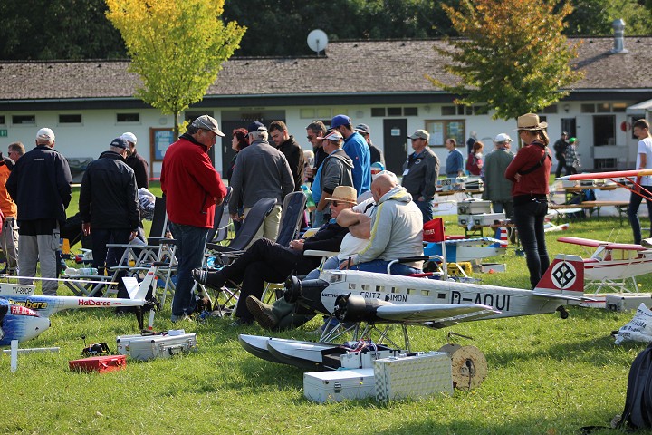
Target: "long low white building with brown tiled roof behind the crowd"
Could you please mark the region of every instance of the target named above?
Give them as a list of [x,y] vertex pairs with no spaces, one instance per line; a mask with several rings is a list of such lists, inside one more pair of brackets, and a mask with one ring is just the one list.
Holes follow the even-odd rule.
[[[576,42],[573,40],[573,42]],[[305,149],[305,126],[348,114],[371,128],[385,153],[388,169],[400,171],[408,155],[407,136],[431,132],[431,146],[446,161],[444,140],[465,140],[476,133],[490,145],[497,133],[515,135],[515,121],[493,121],[482,105],[455,106],[454,96],[427,81],[443,82],[444,59],[434,45],[442,41],[369,41],[331,43],[326,56],[234,58],[224,64],[215,84],[186,118],[210,114],[227,133],[250,121],[285,121]],[[652,37],[624,39],[627,49],[612,53],[613,38],[584,38],[576,66],[585,78],[570,95],[540,115],[551,140],[569,131],[580,144],[583,169],[630,169],[636,159],[631,123],[652,109]],[[500,60],[496,60],[500,62]],[[161,115],[132,95],[139,85],[126,61],[0,63],[0,150],[15,141],[31,149],[38,128],[51,127],[56,148],[68,158],[97,158],[110,140],[134,132],[139,153],[152,176],[171,140],[172,116]],[[230,135],[216,147],[216,168],[231,160]],[[465,148],[465,147],[463,147]]]

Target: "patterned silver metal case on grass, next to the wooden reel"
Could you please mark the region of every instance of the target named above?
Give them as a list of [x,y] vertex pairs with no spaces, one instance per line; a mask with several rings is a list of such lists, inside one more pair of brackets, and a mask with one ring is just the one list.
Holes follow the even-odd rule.
[[376,400],[453,395],[451,356],[446,352],[409,353],[374,362]]

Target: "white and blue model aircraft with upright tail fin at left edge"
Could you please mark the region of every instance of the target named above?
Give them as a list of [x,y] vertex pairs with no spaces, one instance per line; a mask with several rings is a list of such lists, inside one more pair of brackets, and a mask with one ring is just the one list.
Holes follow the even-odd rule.
[[0,346],[12,340],[25,342],[50,327],[50,316],[72,308],[112,308],[142,306],[155,276],[149,269],[139,284],[136,278],[123,278],[130,299],[113,297],[78,297],[34,295],[34,285],[0,285]]

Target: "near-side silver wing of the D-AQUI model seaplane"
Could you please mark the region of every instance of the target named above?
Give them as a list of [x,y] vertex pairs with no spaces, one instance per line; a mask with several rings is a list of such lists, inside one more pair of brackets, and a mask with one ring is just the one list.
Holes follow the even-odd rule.
[[463,322],[493,314],[500,312],[482,304],[392,304],[381,305],[376,311],[380,322],[398,323]]

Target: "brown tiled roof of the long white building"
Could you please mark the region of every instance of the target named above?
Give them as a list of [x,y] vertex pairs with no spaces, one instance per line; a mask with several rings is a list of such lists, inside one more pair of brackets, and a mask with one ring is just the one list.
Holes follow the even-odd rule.
[[[576,42],[577,40],[572,40]],[[442,41],[331,43],[327,56],[233,58],[207,95],[310,95],[436,92],[424,77],[446,83]],[[584,39],[577,63],[586,77],[575,89],[652,89],[652,37],[625,38],[629,53],[610,54],[612,38]],[[129,98],[139,85],[127,61],[0,62],[0,101]]]

